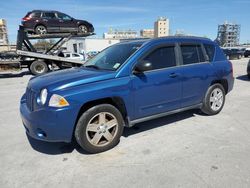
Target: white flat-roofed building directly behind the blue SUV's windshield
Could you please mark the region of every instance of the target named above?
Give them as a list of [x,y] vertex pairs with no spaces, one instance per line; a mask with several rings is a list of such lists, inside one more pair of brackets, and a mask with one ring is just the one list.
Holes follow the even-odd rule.
[[118,39],[73,38],[63,45],[64,50],[75,53],[100,52],[103,49],[120,42]]

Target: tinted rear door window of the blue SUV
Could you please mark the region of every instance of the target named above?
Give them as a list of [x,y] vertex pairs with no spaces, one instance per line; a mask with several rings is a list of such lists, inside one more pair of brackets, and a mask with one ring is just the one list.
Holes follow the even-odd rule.
[[205,62],[201,45],[181,45],[181,54],[184,65]]

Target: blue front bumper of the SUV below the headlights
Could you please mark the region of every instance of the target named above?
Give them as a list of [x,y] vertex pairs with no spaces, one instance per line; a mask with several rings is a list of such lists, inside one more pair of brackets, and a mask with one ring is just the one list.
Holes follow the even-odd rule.
[[48,142],[71,142],[77,110],[75,108],[43,108],[30,111],[26,102],[20,104],[21,118],[29,136]]

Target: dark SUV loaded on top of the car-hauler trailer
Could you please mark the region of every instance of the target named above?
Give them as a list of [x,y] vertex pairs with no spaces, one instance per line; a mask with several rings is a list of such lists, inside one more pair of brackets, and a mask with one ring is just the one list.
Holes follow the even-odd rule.
[[85,20],[77,20],[58,11],[33,10],[22,19],[24,29],[31,33],[58,32],[93,33],[94,27]]

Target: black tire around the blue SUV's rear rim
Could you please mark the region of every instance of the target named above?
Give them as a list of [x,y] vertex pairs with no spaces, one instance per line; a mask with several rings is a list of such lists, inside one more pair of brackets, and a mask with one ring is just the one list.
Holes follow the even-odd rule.
[[[215,110],[212,107],[213,102],[211,102],[210,99],[213,95],[212,93],[214,91],[215,92],[217,91],[216,89],[218,91],[222,92],[222,99],[223,100],[222,100],[222,104],[220,105],[220,107],[218,106],[218,109]],[[206,93],[205,98],[203,100],[203,105],[202,105],[201,111],[207,115],[216,115],[222,110],[224,103],[225,103],[225,89],[224,89],[224,87],[221,84],[214,84],[214,85],[210,86],[207,90],[207,93]],[[216,107],[216,105],[215,105],[215,107]]]

